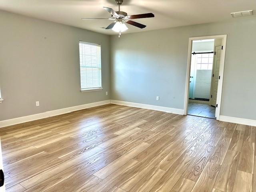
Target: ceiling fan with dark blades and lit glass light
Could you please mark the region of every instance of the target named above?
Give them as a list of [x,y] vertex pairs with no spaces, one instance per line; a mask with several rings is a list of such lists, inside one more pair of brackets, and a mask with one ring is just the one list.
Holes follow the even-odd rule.
[[115,32],[119,33],[119,38],[121,33],[126,31],[128,28],[125,23],[136,26],[138,28],[145,28],[146,25],[137,23],[132,21],[131,19],[139,19],[139,18],[150,18],[154,17],[152,13],[138,14],[138,15],[128,15],[126,12],[120,11],[120,5],[123,3],[123,0],[116,0],[116,4],[118,4],[118,11],[114,11],[112,8],[103,7],[107,12],[111,14],[111,18],[82,18],[82,19],[109,19],[115,20],[106,29],[112,29]]

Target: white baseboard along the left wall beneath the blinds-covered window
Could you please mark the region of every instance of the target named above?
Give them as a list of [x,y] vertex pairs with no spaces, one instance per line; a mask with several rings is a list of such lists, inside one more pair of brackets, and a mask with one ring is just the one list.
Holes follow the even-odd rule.
[[20,124],[20,123],[24,123],[24,122],[34,121],[34,120],[38,120],[38,119],[43,119],[43,118],[47,118],[47,117],[51,117],[51,116],[70,113],[72,111],[78,111],[78,110],[82,110],[82,109],[105,105],[105,104],[109,104],[109,103],[110,103],[110,100],[104,100],[104,101],[88,103],[88,104],[84,104],[84,105],[78,105],[78,106],[73,106],[73,107],[68,107],[68,108],[46,111],[43,113],[33,114],[33,115],[29,115],[29,116],[24,116],[24,117],[18,117],[18,118],[14,118],[14,119],[3,120],[3,121],[0,121],[0,128],[15,125],[15,124]]

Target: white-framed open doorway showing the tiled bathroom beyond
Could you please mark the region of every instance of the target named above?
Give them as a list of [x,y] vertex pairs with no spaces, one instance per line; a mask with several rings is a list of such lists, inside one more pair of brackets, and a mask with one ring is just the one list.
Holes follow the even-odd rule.
[[226,35],[189,38],[185,115],[219,120]]

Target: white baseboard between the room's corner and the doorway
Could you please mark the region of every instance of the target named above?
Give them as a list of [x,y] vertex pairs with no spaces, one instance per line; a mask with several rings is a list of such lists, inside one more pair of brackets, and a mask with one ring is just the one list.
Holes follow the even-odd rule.
[[118,101],[118,100],[110,100],[110,103],[184,115],[183,109],[175,109],[175,108],[169,108],[169,107],[162,107],[162,106],[148,105],[148,104],[141,104],[141,103],[133,103],[133,102],[126,102],[126,101]]

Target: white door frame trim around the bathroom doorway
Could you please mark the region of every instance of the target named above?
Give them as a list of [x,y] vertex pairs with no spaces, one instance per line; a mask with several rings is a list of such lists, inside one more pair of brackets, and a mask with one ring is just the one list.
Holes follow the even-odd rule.
[[191,65],[191,53],[192,53],[192,41],[193,40],[203,40],[203,39],[218,39],[222,38],[223,50],[220,58],[220,79],[218,82],[218,91],[217,91],[217,104],[216,107],[216,120],[220,119],[220,107],[221,107],[221,96],[222,96],[222,86],[223,86],[223,75],[224,75],[224,64],[225,64],[225,54],[226,54],[226,42],[227,35],[214,35],[214,36],[202,36],[202,37],[190,37],[188,38],[188,63],[187,63],[187,72],[186,72],[186,88],[185,88],[185,100],[184,100],[184,115],[188,114],[188,97],[189,97],[189,78],[190,78],[190,65]]

